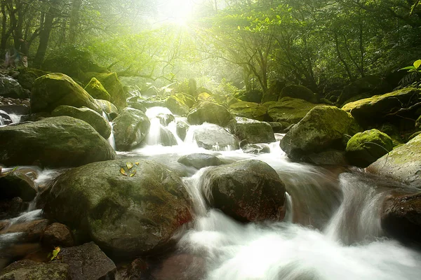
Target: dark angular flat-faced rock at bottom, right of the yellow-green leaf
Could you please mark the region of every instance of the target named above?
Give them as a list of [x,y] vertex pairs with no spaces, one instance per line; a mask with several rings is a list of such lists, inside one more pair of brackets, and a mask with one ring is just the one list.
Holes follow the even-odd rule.
[[69,266],[72,280],[114,279],[116,265],[93,242],[62,248],[60,262]]

